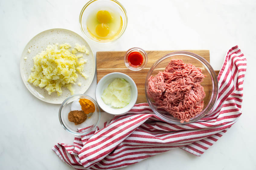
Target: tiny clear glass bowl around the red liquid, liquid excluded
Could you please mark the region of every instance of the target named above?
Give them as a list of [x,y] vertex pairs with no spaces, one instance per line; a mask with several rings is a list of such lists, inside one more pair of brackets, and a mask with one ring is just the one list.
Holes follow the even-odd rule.
[[[136,52],[139,52],[139,53],[142,55],[142,57],[143,57],[143,62],[142,62],[142,64],[141,64],[140,66],[137,66],[137,67],[132,66],[132,65],[129,63],[129,61],[128,61],[128,56],[129,56],[129,54],[132,53],[132,52],[135,52],[135,51],[136,51]],[[144,51],[143,49],[138,48],[138,47],[130,48],[129,50],[127,50],[127,52],[126,52],[126,54],[125,54],[125,56],[124,56],[124,64],[125,64],[125,66],[126,66],[128,69],[132,70],[132,71],[139,71],[139,70],[142,70],[142,69],[147,65],[147,63],[148,63],[148,55],[147,55],[146,51]]]

